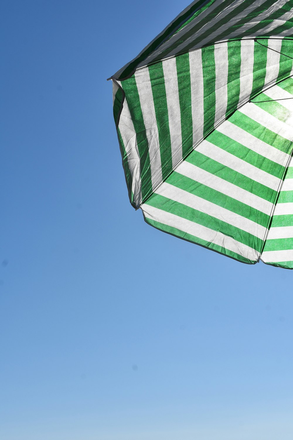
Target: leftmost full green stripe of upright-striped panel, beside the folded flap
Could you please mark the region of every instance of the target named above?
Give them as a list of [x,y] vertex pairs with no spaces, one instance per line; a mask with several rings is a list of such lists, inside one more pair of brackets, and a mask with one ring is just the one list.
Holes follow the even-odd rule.
[[145,124],[141,111],[141,103],[137,91],[135,77],[132,76],[123,81],[123,90],[127,96],[127,103],[137,137],[137,147],[141,165],[141,194],[142,201],[152,193],[152,177],[150,159],[148,153],[148,139],[145,132]]

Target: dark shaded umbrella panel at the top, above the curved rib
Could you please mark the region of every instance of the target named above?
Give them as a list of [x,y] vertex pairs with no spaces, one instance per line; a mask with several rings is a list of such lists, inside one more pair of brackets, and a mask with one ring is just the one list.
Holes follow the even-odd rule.
[[[279,39],[293,35],[293,0],[214,0],[202,2],[201,6],[199,2],[193,2],[189,11],[192,8],[195,8],[195,13],[181,25],[179,31],[172,24],[167,26],[164,37],[163,33],[160,34],[139,57],[119,70],[113,78],[124,79],[137,67],[223,40],[254,37]],[[166,34],[169,34],[168,37]]]

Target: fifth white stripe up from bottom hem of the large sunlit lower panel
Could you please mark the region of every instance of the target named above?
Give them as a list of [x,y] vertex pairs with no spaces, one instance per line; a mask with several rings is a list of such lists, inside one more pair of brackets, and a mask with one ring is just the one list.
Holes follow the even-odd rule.
[[223,124],[219,125],[216,131],[223,133],[225,136],[228,136],[241,145],[244,145],[250,150],[255,151],[257,154],[260,154],[279,165],[286,165],[289,159],[289,154],[283,153],[283,151],[280,151],[268,143],[254,137],[237,125],[232,124],[230,121],[225,121]]

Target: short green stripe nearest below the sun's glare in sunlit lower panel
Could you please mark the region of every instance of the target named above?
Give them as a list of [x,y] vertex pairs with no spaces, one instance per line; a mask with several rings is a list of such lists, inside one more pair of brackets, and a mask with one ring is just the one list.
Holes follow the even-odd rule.
[[272,147],[275,147],[284,153],[291,154],[293,147],[292,142],[283,138],[277,133],[272,132],[268,128],[265,128],[263,125],[241,113],[239,110],[236,110],[235,113],[230,116],[229,121],[250,133],[257,139],[268,143]]

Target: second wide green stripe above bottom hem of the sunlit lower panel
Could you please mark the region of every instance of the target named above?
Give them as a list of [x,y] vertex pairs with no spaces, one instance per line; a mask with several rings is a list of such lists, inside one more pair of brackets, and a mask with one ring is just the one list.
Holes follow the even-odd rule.
[[191,194],[195,194],[209,202],[212,202],[222,208],[228,209],[229,211],[239,214],[242,217],[246,217],[254,221],[261,226],[268,227],[268,222],[270,216],[261,211],[252,208],[245,203],[239,202],[235,198],[229,197],[221,193],[220,191],[214,190],[202,183],[192,180],[189,177],[183,176],[177,172],[173,172],[170,177],[166,180],[167,183],[180,188],[184,191],[188,191]]

